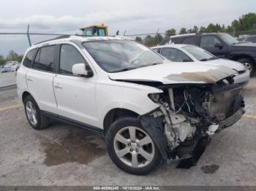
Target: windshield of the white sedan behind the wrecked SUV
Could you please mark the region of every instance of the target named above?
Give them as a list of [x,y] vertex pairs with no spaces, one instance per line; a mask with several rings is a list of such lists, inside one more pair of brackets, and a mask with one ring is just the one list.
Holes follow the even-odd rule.
[[213,58],[216,58],[210,52],[207,52],[206,50],[203,50],[200,47],[187,46],[187,47],[183,47],[183,48],[184,48],[184,50],[187,50],[187,52],[192,54],[195,58],[197,58],[197,60],[199,60],[199,61],[208,61]]

